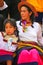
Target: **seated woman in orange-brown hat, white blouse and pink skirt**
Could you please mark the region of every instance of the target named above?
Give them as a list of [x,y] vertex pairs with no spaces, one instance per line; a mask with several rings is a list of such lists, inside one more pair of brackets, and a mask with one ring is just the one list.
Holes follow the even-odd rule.
[[21,20],[17,21],[20,39],[17,65],[43,65],[38,50],[34,47],[43,45],[40,25],[34,22],[37,12],[25,1],[18,4],[18,10]]

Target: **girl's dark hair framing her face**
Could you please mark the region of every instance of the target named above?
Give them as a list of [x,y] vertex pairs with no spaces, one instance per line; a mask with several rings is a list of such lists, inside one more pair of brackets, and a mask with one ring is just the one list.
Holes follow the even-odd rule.
[[5,19],[5,21],[4,21],[4,31],[5,31],[5,25],[6,25],[7,23],[10,23],[12,26],[16,27],[16,30],[15,30],[14,34],[15,34],[16,36],[18,36],[18,29],[17,29],[17,25],[16,25],[16,20],[13,19],[13,18]]

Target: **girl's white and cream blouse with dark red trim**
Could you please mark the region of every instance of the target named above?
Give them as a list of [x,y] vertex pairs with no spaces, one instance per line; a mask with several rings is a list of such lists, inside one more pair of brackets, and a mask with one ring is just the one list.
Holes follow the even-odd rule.
[[0,32],[0,49],[14,52],[17,48],[18,37]]

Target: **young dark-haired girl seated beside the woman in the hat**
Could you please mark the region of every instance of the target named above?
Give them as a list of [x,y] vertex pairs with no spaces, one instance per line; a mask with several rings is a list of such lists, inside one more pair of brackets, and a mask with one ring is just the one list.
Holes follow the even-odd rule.
[[13,53],[17,48],[18,30],[14,19],[4,21],[4,32],[0,32],[0,62],[12,65]]

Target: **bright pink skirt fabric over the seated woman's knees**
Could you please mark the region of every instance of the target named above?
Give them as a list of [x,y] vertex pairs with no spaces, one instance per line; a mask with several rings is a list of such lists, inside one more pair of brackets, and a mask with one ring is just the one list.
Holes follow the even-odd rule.
[[29,62],[38,62],[38,65],[43,65],[42,60],[37,52],[36,49],[32,49],[30,51],[28,50],[23,50],[19,54],[18,58],[18,64],[19,63],[29,63]]

